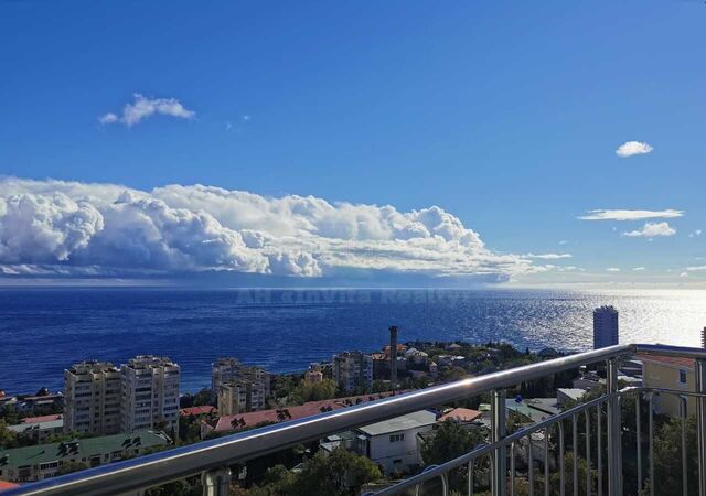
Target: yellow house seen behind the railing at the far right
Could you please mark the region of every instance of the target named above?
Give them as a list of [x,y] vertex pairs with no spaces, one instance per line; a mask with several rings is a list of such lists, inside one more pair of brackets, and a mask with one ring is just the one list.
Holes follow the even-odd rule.
[[[643,364],[642,381],[646,388],[667,388],[684,391],[695,391],[696,376],[694,360],[692,358],[638,355]],[[673,417],[678,417],[680,398],[675,395],[659,395],[654,397],[654,411]],[[686,409],[689,416],[696,413],[696,401],[693,398],[686,400]]]

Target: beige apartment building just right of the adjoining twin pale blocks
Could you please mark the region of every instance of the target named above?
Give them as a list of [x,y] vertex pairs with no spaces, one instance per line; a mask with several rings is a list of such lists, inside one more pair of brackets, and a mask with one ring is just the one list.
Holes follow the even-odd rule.
[[220,358],[211,366],[211,387],[221,414],[263,410],[270,396],[270,377],[260,367],[250,367],[237,358]]

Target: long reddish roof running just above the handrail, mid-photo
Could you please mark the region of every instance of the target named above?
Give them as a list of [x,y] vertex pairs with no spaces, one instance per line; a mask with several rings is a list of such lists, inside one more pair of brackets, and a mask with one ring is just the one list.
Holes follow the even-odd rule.
[[[399,391],[397,392],[397,395],[400,395],[403,392],[407,392],[407,391]],[[373,400],[377,400],[381,398],[387,398],[388,396],[391,396],[389,392],[381,392],[376,395],[351,396],[347,398],[335,398],[335,399],[322,400],[322,401],[309,401],[308,403],[300,405],[297,407],[286,407],[282,409],[252,411],[248,413],[240,413],[237,416],[223,416],[217,419],[214,431],[227,432],[227,431],[236,430],[234,429],[234,422],[238,422],[240,419],[243,422],[245,422],[245,425],[243,425],[243,423],[239,423],[237,429],[243,429],[245,427],[252,428],[263,422],[277,423],[277,422],[282,422],[285,420],[297,420],[304,417],[322,413],[322,409],[330,408],[331,410],[339,410],[341,408],[345,408],[352,405],[357,405],[359,399],[360,399],[360,402],[363,403],[363,402],[370,401],[371,398],[373,398]],[[287,410],[289,412],[289,417],[287,417],[286,419],[281,419],[280,418],[281,416],[278,414],[278,411],[281,411],[281,410]]]

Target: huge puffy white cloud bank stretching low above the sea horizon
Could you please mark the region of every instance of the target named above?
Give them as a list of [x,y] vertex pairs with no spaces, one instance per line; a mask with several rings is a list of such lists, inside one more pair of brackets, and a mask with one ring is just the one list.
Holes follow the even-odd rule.
[[361,271],[507,280],[542,271],[496,254],[437,206],[329,203],[168,185],[0,180],[3,271],[120,274],[233,271],[329,277]]

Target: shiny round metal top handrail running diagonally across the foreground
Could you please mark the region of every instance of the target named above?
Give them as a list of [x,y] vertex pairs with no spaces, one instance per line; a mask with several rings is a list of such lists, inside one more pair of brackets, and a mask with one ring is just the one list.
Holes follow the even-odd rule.
[[[659,346],[661,354],[683,353],[706,358],[706,351]],[[175,448],[124,462],[64,475],[11,489],[15,495],[118,495],[222,468],[292,445],[314,441],[437,405],[502,390],[520,382],[569,370],[581,365],[641,353],[657,353],[652,345],[616,345],[463,379],[248,432]]]

